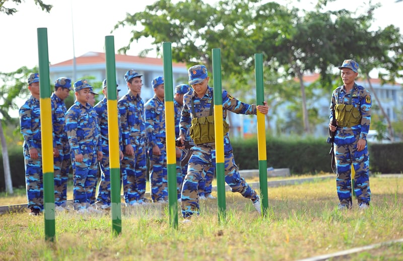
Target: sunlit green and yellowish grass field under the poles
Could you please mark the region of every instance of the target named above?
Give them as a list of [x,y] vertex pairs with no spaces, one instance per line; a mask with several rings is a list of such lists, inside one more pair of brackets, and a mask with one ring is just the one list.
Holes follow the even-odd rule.
[[[216,200],[201,202],[201,215],[190,224],[179,223],[177,230],[169,227],[166,206],[123,208],[122,233],[116,237],[109,214],[56,213],[55,242],[44,240],[43,216],[5,214],[0,259],[295,260],[403,238],[403,178],[371,177],[370,182],[372,201],[366,211],[359,211],[356,202],[352,210],[338,211],[334,180],[316,180],[268,188],[269,213],[263,219],[249,200],[232,192],[226,194],[224,224],[218,222]],[[2,194],[0,205],[7,198],[25,200],[25,195]],[[332,260],[401,256],[400,243]]]

